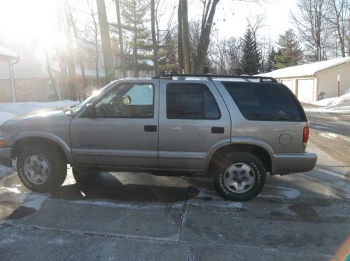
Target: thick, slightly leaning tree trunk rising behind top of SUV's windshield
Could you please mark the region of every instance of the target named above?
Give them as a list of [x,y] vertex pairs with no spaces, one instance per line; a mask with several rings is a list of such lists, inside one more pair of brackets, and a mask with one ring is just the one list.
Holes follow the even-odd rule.
[[111,37],[109,36],[109,23],[106,15],[106,4],[104,0],[97,1],[97,11],[99,13],[99,29],[102,40],[102,51],[104,53],[104,71],[106,84],[115,79],[112,57]]

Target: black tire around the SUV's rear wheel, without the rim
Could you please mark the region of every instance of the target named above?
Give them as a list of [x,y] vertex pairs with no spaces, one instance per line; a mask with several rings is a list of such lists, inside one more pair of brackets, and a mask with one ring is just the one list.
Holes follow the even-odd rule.
[[[251,176],[254,176],[254,182],[252,185],[248,185],[247,191],[235,192],[233,187],[229,187],[225,183],[225,177],[227,178],[228,172],[226,170],[233,164],[246,164],[251,168],[249,172]],[[265,184],[266,170],[262,162],[249,153],[232,153],[223,158],[221,162],[214,169],[214,187],[216,192],[223,198],[243,202],[256,197]]]

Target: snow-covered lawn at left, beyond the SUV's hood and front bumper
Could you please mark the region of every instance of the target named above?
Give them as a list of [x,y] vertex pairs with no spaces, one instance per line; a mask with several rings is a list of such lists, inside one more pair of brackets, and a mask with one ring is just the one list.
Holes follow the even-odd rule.
[[[0,103],[0,125],[10,118],[31,111],[37,111],[45,108],[59,108],[76,104],[77,101],[51,101],[51,102],[16,102]],[[0,177],[10,174],[13,168],[8,168],[0,164]]]

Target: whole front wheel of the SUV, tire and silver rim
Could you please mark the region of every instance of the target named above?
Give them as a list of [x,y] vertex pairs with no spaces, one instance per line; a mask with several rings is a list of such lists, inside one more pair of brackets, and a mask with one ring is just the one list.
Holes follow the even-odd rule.
[[51,192],[66,179],[66,159],[55,148],[27,146],[17,159],[20,180],[34,192]]

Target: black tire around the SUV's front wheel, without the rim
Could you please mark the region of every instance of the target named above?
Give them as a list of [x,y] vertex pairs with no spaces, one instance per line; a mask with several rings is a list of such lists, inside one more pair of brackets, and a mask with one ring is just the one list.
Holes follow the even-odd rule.
[[[33,155],[38,155],[48,166],[48,178],[41,184],[31,181],[25,173],[25,161]],[[66,164],[64,155],[57,148],[31,145],[22,148],[18,155],[17,172],[20,180],[29,190],[38,193],[52,192],[66,179]]]

